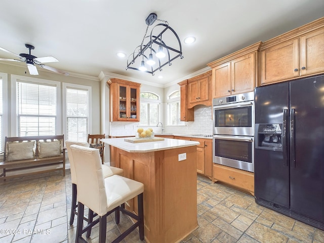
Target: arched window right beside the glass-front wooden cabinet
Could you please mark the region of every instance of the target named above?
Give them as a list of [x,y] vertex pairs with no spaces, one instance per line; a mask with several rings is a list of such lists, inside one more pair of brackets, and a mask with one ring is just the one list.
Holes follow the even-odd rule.
[[159,97],[150,92],[143,92],[141,97],[140,125],[152,126],[159,121]]

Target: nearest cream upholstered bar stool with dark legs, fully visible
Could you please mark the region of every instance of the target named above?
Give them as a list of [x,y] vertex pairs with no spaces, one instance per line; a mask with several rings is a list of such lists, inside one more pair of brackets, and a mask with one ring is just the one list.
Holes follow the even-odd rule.
[[[134,229],[139,227],[139,237],[144,239],[143,191],[144,185],[140,182],[113,175],[103,177],[101,159],[98,149],[71,145],[75,163],[78,211],[75,242],[87,242],[82,234],[99,222],[99,242],[106,242],[107,216],[115,212],[116,224],[119,223],[119,211],[134,218],[134,223],[113,242],[120,242]],[[120,205],[137,196],[138,216],[126,211]],[[98,214],[99,218],[83,228],[84,206]],[[89,237],[87,235],[87,237]]]

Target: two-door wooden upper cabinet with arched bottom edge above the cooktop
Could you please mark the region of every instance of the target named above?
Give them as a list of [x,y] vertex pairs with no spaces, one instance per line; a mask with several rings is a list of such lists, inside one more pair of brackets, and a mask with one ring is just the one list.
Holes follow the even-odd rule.
[[212,105],[212,71],[188,79],[188,108],[195,105]]

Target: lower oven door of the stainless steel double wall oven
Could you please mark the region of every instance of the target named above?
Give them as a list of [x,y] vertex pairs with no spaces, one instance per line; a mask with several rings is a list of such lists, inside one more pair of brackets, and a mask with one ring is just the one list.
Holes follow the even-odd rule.
[[214,135],[213,162],[254,172],[254,137]]

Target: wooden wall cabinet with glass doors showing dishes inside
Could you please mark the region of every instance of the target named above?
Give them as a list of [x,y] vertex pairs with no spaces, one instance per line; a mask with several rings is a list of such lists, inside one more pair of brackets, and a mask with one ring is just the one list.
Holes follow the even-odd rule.
[[110,96],[110,121],[139,121],[141,84],[118,78],[107,81]]

